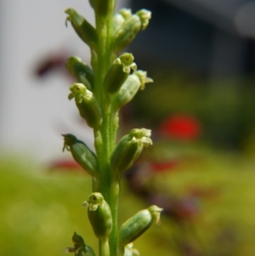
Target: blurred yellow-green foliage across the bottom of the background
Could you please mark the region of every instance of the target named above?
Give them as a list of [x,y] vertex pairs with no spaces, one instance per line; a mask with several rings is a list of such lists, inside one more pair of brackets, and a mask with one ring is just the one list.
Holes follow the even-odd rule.
[[[176,198],[194,188],[216,193],[197,198],[199,210],[191,219],[177,222],[163,215],[161,227],[148,230],[134,247],[141,255],[254,255],[255,160],[202,147],[191,156],[173,170],[146,174],[146,185]],[[1,255],[63,255],[74,231],[97,247],[82,208],[91,191],[88,175],[49,173],[19,157],[2,157],[0,169]],[[120,203],[120,223],[148,207],[125,181]],[[199,254],[187,254],[181,242]]]

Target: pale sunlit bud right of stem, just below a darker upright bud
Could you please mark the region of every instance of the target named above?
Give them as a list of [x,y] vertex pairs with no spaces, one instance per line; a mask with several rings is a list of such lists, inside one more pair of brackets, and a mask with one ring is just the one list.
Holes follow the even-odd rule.
[[132,100],[139,88],[141,90],[145,88],[145,83],[153,82],[150,77],[146,76],[147,72],[145,71],[135,71],[127,77],[127,80],[122,84],[122,87],[112,99],[114,109],[120,109]]

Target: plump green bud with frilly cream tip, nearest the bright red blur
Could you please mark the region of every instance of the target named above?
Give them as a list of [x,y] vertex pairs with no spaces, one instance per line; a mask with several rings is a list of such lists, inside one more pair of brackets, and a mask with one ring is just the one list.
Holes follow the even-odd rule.
[[145,128],[134,128],[120,139],[111,154],[111,170],[119,176],[133,165],[144,147],[152,145],[151,131]]

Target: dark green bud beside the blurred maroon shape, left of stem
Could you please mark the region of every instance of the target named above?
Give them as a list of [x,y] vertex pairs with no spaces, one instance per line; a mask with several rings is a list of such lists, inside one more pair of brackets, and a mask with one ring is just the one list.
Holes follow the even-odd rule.
[[89,90],[94,87],[94,73],[93,70],[86,65],[77,56],[72,56],[68,58],[66,69],[70,71],[71,75],[77,78],[78,82],[82,82]]

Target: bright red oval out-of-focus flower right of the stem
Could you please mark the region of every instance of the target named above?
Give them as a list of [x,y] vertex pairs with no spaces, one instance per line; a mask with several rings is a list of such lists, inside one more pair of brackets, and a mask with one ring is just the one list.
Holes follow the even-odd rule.
[[159,131],[173,139],[196,139],[201,134],[201,123],[195,117],[175,115],[162,122]]

